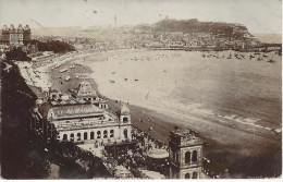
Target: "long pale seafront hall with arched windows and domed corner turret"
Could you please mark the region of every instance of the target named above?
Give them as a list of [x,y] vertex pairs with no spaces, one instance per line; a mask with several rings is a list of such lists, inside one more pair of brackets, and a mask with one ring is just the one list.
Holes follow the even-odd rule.
[[[89,97],[99,99],[87,82],[79,84],[77,98],[83,95],[83,99],[89,99],[86,92]],[[124,104],[119,114],[91,102],[39,105],[32,111],[30,128],[47,137],[75,143],[113,144],[132,141],[131,113]]]

